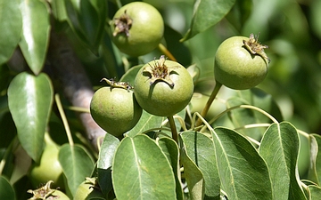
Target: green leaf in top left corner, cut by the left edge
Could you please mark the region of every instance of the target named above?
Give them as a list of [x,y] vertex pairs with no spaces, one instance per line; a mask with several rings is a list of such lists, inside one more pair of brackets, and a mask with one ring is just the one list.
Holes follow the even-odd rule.
[[19,43],[22,18],[18,0],[0,1],[0,66],[12,56]]

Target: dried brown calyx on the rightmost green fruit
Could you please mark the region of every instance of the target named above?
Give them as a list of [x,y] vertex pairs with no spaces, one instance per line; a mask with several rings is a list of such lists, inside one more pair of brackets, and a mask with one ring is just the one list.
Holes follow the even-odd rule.
[[270,62],[270,59],[268,58],[268,55],[264,52],[264,49],[268,49],[268,45],[260,44],[259,43],[259,35],[254,36],[253,34],[250,35],[250,38],[248,41],[243,40],[243,44],[245,48],[251,52],[251,54],[255,55],[258,54],[263,59]]

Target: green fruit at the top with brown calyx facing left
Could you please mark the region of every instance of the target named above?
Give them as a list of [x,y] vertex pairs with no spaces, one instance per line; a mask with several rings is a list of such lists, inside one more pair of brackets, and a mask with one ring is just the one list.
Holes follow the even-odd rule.
[[111,22],[111,40],[131,56],[152,52],[161,42],[164,21],[151,4],[132,2],[117,11]]

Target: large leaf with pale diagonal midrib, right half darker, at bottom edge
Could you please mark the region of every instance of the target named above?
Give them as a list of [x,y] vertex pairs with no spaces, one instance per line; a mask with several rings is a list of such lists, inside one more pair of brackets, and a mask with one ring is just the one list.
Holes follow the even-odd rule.
[[222,127],[211,133],[221,187],[228,199],[272,199],[267,164],[251,142]]

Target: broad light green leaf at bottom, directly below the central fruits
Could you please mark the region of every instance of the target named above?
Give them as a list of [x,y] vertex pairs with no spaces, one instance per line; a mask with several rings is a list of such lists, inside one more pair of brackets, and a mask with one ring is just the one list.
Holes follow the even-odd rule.
[[121,140],[111,175],[118,200],[176,199],[175,178],[169,160],[146,135]]

